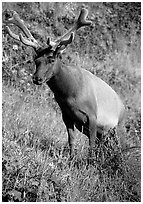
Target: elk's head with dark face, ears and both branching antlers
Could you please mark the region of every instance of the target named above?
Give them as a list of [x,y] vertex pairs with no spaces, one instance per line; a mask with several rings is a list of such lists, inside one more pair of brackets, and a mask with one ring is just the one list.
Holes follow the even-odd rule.
[[73,41],[75,32],[79,28],[89,26],[91,24],[91,21],[86,20],[87,14],[88,10],[82,8],[74,26],[54,42],[48,38],[47,45],[44,48],[32,36],[24,22],[20,19],[19,15],[15,11],[13,12],[13,17],[5,21],[6,24],[15,24],[18,26],[25,34],[25,37],[23,37],[22,34],[14,34],[10,28],[6,26],[8,34],[15,40],[21,41],[24,45],[34,48],[36,52],[36,57],[34,59],[36,71],[33,75],[33,82],[35,84],[40,85],[47,82],[54,75],[56,69],[56,66],[54,65],[59,54],[62,53],[67,45]]

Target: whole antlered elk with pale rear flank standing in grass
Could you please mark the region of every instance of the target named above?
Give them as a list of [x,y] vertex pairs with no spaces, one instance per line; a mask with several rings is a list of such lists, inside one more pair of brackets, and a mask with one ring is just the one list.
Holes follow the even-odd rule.
[[[73,27],[56,41],[48,38],[45,47],[32,36],[15,11],[12,18],[6,21],[5,27],[12,38],[34,48],[36,71],[33,83],[46,83],[54,93],[67,128],[70,155],[75,127],[89,138],[90,150],[95,151],[97,138],[100,138],[105,130],[116,128],[124,115],[121,99],[106,82],[86,69],[67,66],[61,61],[60,55],[67,45],[72,43],[75,32],[81,27],[91,25],[92,22],[86,19],[87,14],[88,10],[82,8]],[[14,34],[8,24],[18,26],[25,37],[22,34]]]

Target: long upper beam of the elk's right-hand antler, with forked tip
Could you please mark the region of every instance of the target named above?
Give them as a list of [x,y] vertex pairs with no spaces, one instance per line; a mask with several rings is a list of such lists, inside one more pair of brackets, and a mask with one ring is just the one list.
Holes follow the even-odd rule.
[[72,32],[75,33],[79,28],[83,27],[83,26],[89,26],[91,25],[91,21],[86,20],[86,17],[88,15],[88,10],[85,8],[81,9],[80,15],[76,21],[76,23],[74,24],[74,26],[67,32],[65,33],[62,37],[60,37],[56,43],[59,43],[60,41],[64,40],[65,38],[67,38]]

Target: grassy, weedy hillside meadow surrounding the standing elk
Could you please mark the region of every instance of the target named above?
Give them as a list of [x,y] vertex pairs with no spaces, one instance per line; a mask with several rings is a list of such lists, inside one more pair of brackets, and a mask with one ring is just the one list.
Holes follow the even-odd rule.
[[[37,40],[69,29],[83,3],[3,3],[3,20],[16,10]],[[84,3],[93,25],[78,31],[64,63],[106,81],[126,107],[118,128],[97,144],[88,165],[88,138],[75,132],[69,162],[67,132],[53,93],[32,83],[31,48],[11,39],[3,27],[2,199],[3,202],[141,201],[141,5]],[[17,28],[13,31],[19,32]]]

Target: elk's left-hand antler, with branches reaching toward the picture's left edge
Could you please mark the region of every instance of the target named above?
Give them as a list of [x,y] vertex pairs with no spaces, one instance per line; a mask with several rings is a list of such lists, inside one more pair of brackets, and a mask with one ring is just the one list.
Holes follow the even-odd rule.
[[9,26],[6,26],[6,31],[15,40],[21,41],[23,44],[31,46],[31,47],[35,48],[36,50],[38,50],[41,47],[39,45],[39,43],[37,42],[37,40],[32,36],[32,34],[30,33],[30,31],[28,30],[26,25],[24,24],[24,21],[20,19],[19,15],[16,13],[16,11],[13,12],[13,17],[8,19],[4,23],[5,24],[15,24],[23,31],[23,33],[27,37],[27,38],[24,38],[22,36],[22,34],[20,34],[20,35],[14,34],[10,30]]

